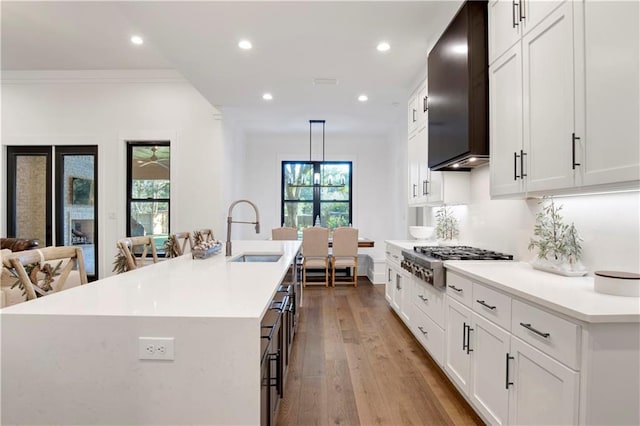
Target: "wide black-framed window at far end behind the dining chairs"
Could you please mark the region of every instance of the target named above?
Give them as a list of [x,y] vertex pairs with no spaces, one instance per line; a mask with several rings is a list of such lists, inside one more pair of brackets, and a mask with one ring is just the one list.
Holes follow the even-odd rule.
[[351,223],[350,161],[283,161],[281,222],[302,230]]

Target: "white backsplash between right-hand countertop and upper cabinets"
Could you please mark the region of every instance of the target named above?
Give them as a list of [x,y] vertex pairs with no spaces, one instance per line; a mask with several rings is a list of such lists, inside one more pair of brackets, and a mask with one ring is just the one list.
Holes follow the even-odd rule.
[[[529,261],[539,200],[491,200],[489,167],[471,172],[472,202],[452,206],[460,221],[459,241],[513,254]],[[640,192],[556,197],[565,222],[574,222],[584,242],[582,262],[595,270],[640,272]],[[424,209],[425,222],[435,224],[435,208]]]

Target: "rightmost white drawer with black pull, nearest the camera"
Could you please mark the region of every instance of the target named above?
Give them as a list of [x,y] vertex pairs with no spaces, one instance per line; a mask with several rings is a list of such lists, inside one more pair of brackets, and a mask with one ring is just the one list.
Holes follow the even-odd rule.
[[580,369],[579,325],[518,300],[511,308],[512,334],[570,368]]

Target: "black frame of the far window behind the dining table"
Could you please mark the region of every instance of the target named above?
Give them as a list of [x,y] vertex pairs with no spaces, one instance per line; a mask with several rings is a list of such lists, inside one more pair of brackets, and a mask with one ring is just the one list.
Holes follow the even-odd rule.
[[[349,186],[349,199],[348,200],[322,200],[322,185],[320,184],[309,184],[310,187],[313,187],[313,200],[311,201],[313,204],[313,215],[312,218],[321,215],[322,204],[323,203],[348,203],[349,204],[349,224],[353,223],[353,162],[352,161],[293,161],[286,160],[282,161],[281,169],[280,169],[280,223],[285,223],[285,203],[309,203],[310,200],[287,200],[285,198],[285,168],[289,164],[311,164],[313,166],[312,176],[316,173],[320,173],[322,176],[322,166],[323,165],[347,165],[349,167],[349,178],[345,181],[345,185]],[[312,219],[315,223],[315,219]]]

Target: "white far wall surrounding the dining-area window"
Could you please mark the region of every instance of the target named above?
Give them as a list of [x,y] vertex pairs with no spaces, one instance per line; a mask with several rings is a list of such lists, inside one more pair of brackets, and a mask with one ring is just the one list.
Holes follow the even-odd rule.
[[[353,220],[360,235],[375,240],[368,252],[384,253],[384,240],[397,238],[398,223],[406,209],[406,195],[401,204],[398,176],[406,173],[404,158],[399,158],[396,143],[390,138],[367,135],[334,135],[327,123],[325,159],[353,162]],[[400,146],[406,145],[403,143]],[[309,134],[248,135],[245,140],[244,185],[238,198],[258,205],[262,232],[256,235],[249,225],[233,225],[233,238],[268,238],[271,228],[280,223],[281,162],[309,159]],[[238,159],[240,160],[240,159]],[[253,213],[246,206],[234,210],[234,219],[250,220]],[[363,251],[367,251],[366,249]],[[384,256],[382,256],[384,257]]]

